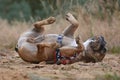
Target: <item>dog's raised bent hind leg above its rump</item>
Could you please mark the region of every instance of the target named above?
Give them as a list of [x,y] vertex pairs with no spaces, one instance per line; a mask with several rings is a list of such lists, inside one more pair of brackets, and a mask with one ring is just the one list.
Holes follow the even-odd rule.
[[35,22],[34,28],[27,33],[27,36],[29,37],[27,41],[30,43],[41,42],[44,39],[44,25],[52,24],[53,22],[55,22],[54,17]]

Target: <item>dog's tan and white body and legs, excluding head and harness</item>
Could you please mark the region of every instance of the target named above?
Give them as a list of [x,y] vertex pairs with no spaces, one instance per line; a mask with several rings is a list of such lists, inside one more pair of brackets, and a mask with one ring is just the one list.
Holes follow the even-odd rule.
[[54,53],[57,48],[65,57],[70,57],[77,52],[84,50],[83,44],[79,38],[76,38],[77,47],[71,46],[74,40],[74,32],[78,28],[78,21],[72,14],[66,15],[66,20],[70,22],[70,26],[63,32],[63,45],[60,46],[56,42],[58,34],[44,35],[44,25],[49,25],[55,22],[54,17],[38,21],[34,24],[34,28],[28,32],[23,33],[18,40],[18,54],[20,57],[28,62],[53,61]]

